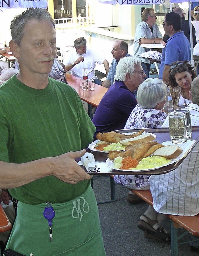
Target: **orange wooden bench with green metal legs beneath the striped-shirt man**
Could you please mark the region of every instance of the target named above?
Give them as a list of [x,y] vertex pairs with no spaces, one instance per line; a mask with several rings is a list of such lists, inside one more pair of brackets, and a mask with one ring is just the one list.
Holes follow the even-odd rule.
[[[140,197],[142,200],[153,206],[153,198],[150,190],[133,190],[131,191]],[[165,214],[170,219],[170,232],[171,232],[171,256],[178,256],[178,240],[183,238],[187,232],[194,236],[199,236],[199,214],[196,216],[178,216]],[[185,231],[178,237],[178,228],[183,228]]]

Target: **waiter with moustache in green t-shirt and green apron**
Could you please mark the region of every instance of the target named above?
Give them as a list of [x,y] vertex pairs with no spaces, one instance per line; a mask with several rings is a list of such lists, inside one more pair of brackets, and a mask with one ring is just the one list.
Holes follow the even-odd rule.
[[0,89],[0,187],[19,202],[7,249],[104,256],[91,176],[75,161],[95,127],[77,93],[48,76],[57,51],[54,21],[29,9],[13,19],[11,35],[20,71]]

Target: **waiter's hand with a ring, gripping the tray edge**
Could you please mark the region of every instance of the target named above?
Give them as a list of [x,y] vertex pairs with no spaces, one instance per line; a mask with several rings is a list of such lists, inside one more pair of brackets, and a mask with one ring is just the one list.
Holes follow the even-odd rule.
[[80,158],[86,153],[86,150],[68,152],[55,157],[53,160],[53,175],[63,182],[76,184],[82,180],[89,180],[91,175],[86,173],[74,159]]

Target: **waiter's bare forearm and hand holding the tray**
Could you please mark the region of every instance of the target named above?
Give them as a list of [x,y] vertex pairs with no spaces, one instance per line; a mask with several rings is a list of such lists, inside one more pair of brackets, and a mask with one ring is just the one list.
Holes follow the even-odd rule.
[[55,176],[63,182],[76,184],[92,178],[76,163],[86,150],[67,152],[59,156],[46,157],[24,164],[0,161],[0,187],[3,189],[23,186],[32,181]]

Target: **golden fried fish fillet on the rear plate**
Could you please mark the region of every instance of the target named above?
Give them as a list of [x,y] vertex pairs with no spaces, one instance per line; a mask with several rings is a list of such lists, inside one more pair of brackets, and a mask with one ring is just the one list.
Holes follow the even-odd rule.
[[110,132],[104,132],[104,133],[100,133],[98,132],[97,134],[97,139],[98,140],[104,140],[110,143],[118,143],[121,140],[126,140],[129,138],[134,138],[137,137],[139,135],[141,135],[145,130],[140,130],[136,133],[130,134],[130,135],[125,135],[125,134],[121,134],[118,132],[114,132],[114,131],[110,131]]

